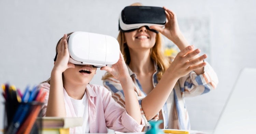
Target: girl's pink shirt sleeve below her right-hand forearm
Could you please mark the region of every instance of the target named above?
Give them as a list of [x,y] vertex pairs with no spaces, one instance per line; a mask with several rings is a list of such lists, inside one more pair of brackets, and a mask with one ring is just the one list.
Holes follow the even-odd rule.
[[111,97],[111,92],[104,91],[103,107],[106,126],[119,132],[141,132],[145,123],[142,118],[141,124],[138,124],[130,115],[127,114],[125,108],[117,104]]

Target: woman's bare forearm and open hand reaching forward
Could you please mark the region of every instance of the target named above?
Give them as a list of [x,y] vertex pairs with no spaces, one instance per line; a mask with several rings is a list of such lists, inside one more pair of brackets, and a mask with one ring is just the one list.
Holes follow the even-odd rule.
[[152,119],[161,110],[179,78],[206,65],[201,63],[206,58],[204,56],[191,59],[198,53],[193,46],[188,46],[177,54],[159,83],[141,102],[146,119]]

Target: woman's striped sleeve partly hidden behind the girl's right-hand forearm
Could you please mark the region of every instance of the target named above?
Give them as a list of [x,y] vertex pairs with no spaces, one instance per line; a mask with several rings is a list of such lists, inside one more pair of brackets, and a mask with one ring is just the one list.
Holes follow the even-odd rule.
[[[114,101],[117,102],[120,106],[125,108],[124,91],[123,91],[123,88],[122,88],[120,82],[115,78],[108,78],[108,79],[103,80],[103,85],[105,88],[107,88],[112,93],[112,98],[114,99]],[[134,86],[134,92],[136,93],[137,99],[139,101],[141,116],[142,116],[142,118],[144,120],[144,124],[145,124],[144,132],[146,132],[150,128],[150,124],[148,123],[148,121],[150,121],[150,120],[146,119],[144,111],[141,107],[141,101],[143,100],[143,98],[145,96],[142,95],[142,93],[139,91],[139,89],[136,88],[136,86]],[[153,121],[158,120],[158,115],[159,114],[157,114],[151,120],[153,120]]]

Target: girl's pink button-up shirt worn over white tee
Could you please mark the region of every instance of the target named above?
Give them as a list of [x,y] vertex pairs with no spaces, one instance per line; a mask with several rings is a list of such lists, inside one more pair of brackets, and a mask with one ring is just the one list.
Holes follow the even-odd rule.
[[[48,83],[42,83],[39,86],[47,92],[44,100],[40,116],[45,116],[49,89]],[[64,102],[67,117],[76,117],[72,102],[63,88]],[[112,94],[108,89],[99,86],[87,84],[86,93],[89,98],[88,113],[89,113],[89,129],[90,133],[107,133],[107,129],[113,129],[119,132],[141,132],[145,125],[142,119],[142,124],[139,125],[126,110],[115,102]],[[70,128],[70,133],[75,133],[75,128]]]

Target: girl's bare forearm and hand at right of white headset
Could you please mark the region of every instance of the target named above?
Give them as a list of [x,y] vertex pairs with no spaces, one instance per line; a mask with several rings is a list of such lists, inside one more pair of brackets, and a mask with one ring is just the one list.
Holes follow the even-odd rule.
[[112,65],[111,68],[104,66],[101,70],[108,71],[120,81],[125,96],[125,109],[138,124],[141,124],[140,106],[122,53],[120,52],[118,62]]

